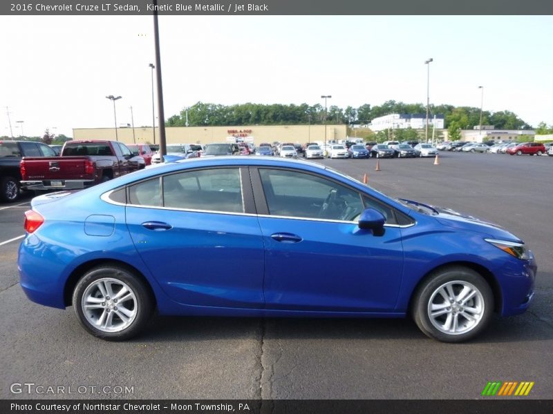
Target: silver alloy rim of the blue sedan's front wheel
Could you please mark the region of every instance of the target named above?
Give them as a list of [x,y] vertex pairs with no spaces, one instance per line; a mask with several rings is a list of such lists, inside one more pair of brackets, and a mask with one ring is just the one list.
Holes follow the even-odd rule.
[[480,290],[462,280],[444,283],[434,290],[427,308],[431,324],[448,335],[461,335],[476,328],[484,311]]

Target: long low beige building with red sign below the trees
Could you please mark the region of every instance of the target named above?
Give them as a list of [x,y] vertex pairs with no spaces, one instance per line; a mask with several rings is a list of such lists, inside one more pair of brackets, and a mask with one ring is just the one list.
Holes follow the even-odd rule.
[[[159,128],[156,141],[152,128],[117,128],[119,141],[125,144],[159,144]],[[272,125],[272,126],[182,126],[166,127],[167,144],[209,144],[227,142],[233,137],[259,145],[262,142],[280,141],[304,144],[324,141],[324,125]],[[327,125],[326,139],[346,139],[346,125]],[[115,128],[73,128],[73,139],[113,139]]]

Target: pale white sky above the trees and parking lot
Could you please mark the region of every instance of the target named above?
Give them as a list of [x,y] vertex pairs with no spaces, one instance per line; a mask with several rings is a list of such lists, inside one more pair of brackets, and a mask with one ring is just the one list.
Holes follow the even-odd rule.
[[[197,101],[388,99],[553,124],[553,17],[160,16],[166,119]],[[151,126],[153,17],[0,17],[0,136]],[[157,116],[157,103],[156,103]],[[156,125],[158,121],[156,121]]]

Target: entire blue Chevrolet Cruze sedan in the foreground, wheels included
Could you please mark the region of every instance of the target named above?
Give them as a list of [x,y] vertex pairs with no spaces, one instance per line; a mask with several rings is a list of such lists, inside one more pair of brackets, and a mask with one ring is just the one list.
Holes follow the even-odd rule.
[[460,342],[533,295],[536,262],[518,237],[306,161],[178,161],[31,205],[22,288],[39,304],[73,304],[104,339],[132,337],[157,309],[413,315],[426,335]]

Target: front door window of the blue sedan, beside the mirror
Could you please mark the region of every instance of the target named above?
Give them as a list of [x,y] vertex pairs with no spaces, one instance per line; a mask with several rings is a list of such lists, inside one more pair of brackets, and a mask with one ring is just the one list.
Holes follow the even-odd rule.
[[270,215],[355,221],[364,210],[357,191],[330,179],[265,168],[259,174]]

